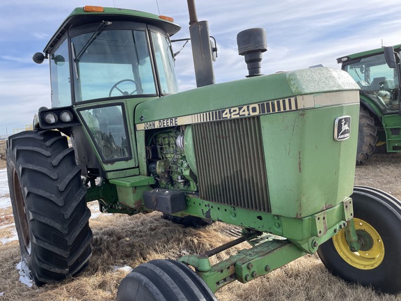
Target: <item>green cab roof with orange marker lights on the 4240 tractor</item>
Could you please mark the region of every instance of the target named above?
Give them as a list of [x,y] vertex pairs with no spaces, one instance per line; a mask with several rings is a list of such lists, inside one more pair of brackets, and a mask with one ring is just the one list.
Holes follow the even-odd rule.
[[65,32],[69,29],[82,26],[91,23],[100,23],[102,21],[125,21],[125,22],[141,22],[157,26],[170,36],[177,33],[181,27],[178,24],[162,19],[162,16],[154,15],[151,13],[145,13],[139,10],[129,10],[125,8],[107,8],[97,6],[97,10],[91,10],[93,6],[79,7],[72,10],[72,13],[64,20],[61,26],[58,28],[54,36],[49,40],[43,52],[49,54],[52,49],[58,44],[61,38],[65,35]]

